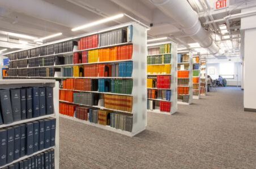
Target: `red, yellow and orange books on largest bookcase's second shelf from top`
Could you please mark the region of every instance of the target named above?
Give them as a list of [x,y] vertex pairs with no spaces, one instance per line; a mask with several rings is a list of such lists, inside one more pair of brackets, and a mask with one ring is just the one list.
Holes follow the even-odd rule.
[[133,55],[133,45],[124,45],[99,50],[75,52],[73,64],[97,63],[104,61],[130,60]]

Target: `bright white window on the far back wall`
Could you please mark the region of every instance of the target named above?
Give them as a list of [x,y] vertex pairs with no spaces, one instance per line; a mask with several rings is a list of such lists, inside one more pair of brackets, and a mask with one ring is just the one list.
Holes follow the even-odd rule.
[[220,75],[223,78],[234,78],[234,63],[220,63]]

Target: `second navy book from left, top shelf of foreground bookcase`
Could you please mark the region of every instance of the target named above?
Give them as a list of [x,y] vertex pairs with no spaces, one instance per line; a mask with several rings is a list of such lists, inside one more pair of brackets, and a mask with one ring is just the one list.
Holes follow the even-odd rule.
[[20,89],[11,89],[11,107],[12,117],[14,121],[20,121],[22,114],[20,113]]

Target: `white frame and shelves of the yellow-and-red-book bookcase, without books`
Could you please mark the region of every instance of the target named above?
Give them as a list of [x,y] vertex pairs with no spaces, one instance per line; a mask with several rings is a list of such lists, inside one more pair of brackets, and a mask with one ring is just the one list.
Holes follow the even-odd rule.
[[148,50],[151,48],[160,48],[161,45],[167,45],[170,44],[170,52],[163,53],[163,54],[153,54],[153,55],[147,55],[148,57],[151,56],[165,56],[165,55],[170,55],[170,63],[165,63],[164,60],[161,61],[161,63],[151,63],[151,61],[147,61],[147,66],[157,66],[157,65],[170,65],[171,69],[170,72],[165,72],[159,73],[159,72],[154,72],[154,73],[147,73],[147,78],[153,78],[156,79],[157,75],[168,75],[170,77],[170,88],[157,88],[155,87],[147,87],[147,90],[157,90],[162,91],[162,90],[170,90],[171,96],[170,100],[163,100],[163,99],[151,99],[147,98],[147,100],[152,100],[152,101],[165,101],[171,104],[170,106],[170,111],[169,112],[164,112],[160,111],[160,106],[156,104],[155,109],[150,109],[150,106],[148,105],[148,112],[153,112],[153,113],[160,113],[160,114],[174,114],[177,112],[177,44],[171,41],[168,42],[161,42],[161,43],[151,43],[147,45]]

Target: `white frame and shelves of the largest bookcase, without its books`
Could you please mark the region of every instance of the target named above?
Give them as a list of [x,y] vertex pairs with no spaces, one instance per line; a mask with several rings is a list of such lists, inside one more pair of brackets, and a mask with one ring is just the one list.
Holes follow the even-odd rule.
[[[122,95],[122,96],[133,96],[133,108],[131,112],[125,112],[121,110],[115,110],[115,109],[107,109],[103,105],[103,101],[100,99],[99,100],[99,105],[83,105],[83,104],[76,104],[76,103],[70,103],[65,100],[60,100],[61,103],[67,103],[67,104],[73,104],[76,106],[89,106],[91,108],[98,108],[98,109],[105,109],[105,110],[113,110],[113,112],[118,112],[121,114],[129,114],[133,115],[133,128],[131,132],[123,131],[120,129],[116,129],[110,126],[103,126],[101,124],[95,124],[91,123],[89,121],[83,121],[75,117],[69,117],[67,115],[61,115],[62,117],[72,119],[77,122],[82,122],[85,124],[90,124],[95,127],[100,127],[105,130],[113,131],[113,132],[118,132],[119,134],[127,135],[127,136],[134,136],[138,134],[139,132],[142,132],[143,130],[146,129],[147,126],[147,89],[146,89],[146,48],[147,48],[147,28],[144,26],[140,25],[139,23],[135,22],[130,22],[130,23],[125,23],[117,26],[113,26],[110,28],[102,29],[96,32],[91,32],[91,33],[86,33],[82,35],[78,35],[76,37],[71,37],[71,38],[66,38],[66,39],[61,39],[59,41],[54,41],[50,43],[45,43],[44,45],[40,45],[37,47],[42,47],[42,46],[48,46],[48,45],[53,45],[56,43],[61,43],[61,42],[66,42],[66,41],[78,41],[80,38],[88,37],[90,35],[95,35],[95,34],[101,34],[101,33],[106,33],[110,32],[112,30],[117,30],[117,29],[127,29],[129,26],[133,27],[133,30],[131,30],[133,36],[132,36],[132,41],[129,42],[123,42],[123,43],[117,43],[115,45],[108,45],[108,46],[98,46],[94,48],[87,48],[85,50],[78,50],[77,47],[74,47],[73,51],[70,52],[65,52],[65,53],[60,53],[60,54],[52,54],[52,55],[45,55],[45,56],[37,56],[37,57],[27,57],[25,59],[38,59],[40,57],[49,57],[49,56],[54,56],[54,55],[72,55],[76,52],[82,52],[82,51],[91,51],[91,50],[99,50],[102,48],[112,48],[112,47],[117,47],[117,46],[125,46],[125,45],[133,45],[133,55],[132,59],[129,60],[114,60],[114,61],[97,61],[93,63],[82,63],[82,64],[68,64],[68,65],[52,65],[52,66],[38,66],[38,67],[28,67],[27,68],[12,68],[12,69],[31,69],[31,68],[61,68],[61,74],[63,73],[63,67],[72,67],[72,66],[83,66],[83,65],[91,65],[91,64],[115,64],[115,63],[123,63],[125,61],[132,61],[133,62],[133,73],[131,77],[63,77],[62,75],[55,74],[54,77],[27,77],[27,76],[9,76],[8,78],[40,78],[40,79],[58,79],[59,81],[63,81],[65,79],[69,78],[74,78],[74,79],[133,79],[133,90],[131,95],[125,95],[125,94],[116,94],[116,93],[110,93],[110,92],[99,92],[99,91],[76,91],[72,90],[74,92],[91,92],[91,93],[97,93],[100,95],[108,94],[108,95]],[[110,35],[109,35],[110,36]],[[105,38],[106,39],[106,38]],[[33,48],[37,48],[33,47]],[[32,48],[29,48],[32,49]],[[28,50],[28,49],[26,49]],[[23,50],[19,50],[23,51]],[[15,51],[18,52],[18,51]],[[14,52],[10,52],[8,54],[12,54]],[[6,54],[6,55],[8,55]],[[25,60],[25,59],[19,59],[19,60]],[[17,61],[17,60],[11,60],[11,61]],[[61,89],[65,90],[65,89]],[[75,114],[75,113],[74,113]]]

